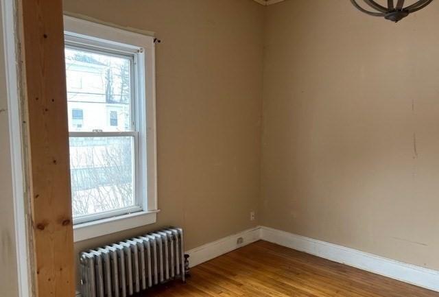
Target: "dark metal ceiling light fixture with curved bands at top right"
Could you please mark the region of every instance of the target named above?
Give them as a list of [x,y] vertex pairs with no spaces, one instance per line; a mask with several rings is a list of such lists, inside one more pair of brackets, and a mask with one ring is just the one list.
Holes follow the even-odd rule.
[[433,0],[418,0],[416,1],[416,3],[413,3],[412,5],[408,5],[407,7],[404,7],[405,0],[398,0],[396,5],[394,5],[393,0],[388,0],[387,7],[378,4],[373,0],[363,0],[367,5],[373,8],[375,12],[370,12],[369,10],[362,8],[357,3],[357,1],[358,0],[351,0],[353,5],[356,8],[358,8],[361,12],[364,12],[371,16],[384,16],[385,19],[388,19],[396,23],[404,19],[405,16],[408,16],[412,12],[417,12],[418,10],[422,10],[423,8],[425,8],[425,6],[429,5],[429,3],[431,3],[431,1]]

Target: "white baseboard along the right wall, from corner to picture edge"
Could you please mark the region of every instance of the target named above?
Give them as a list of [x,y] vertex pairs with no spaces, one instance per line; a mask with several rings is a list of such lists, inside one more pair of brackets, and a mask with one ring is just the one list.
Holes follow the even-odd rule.
[[439,271],[261,226],[261,239],[439,292]]

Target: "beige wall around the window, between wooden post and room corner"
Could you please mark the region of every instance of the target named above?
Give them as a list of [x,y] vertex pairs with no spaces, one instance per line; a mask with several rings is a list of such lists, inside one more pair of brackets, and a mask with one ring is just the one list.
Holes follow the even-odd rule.
[[166,225],[195,248],[258,224],[262,5],[252,0],[65,0],[64,10],[156,32],[157,224],[82,241],[76,252]]

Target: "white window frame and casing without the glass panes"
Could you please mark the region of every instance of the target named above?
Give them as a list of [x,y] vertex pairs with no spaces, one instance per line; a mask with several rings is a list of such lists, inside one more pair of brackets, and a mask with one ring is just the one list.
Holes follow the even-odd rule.
[[[105,132],[105,136],[132,136],[139,152],[135,164],[137,187],[136,200],[140,208],[115,211],[114,216],[97,215],[90,222],[74,222],[74,241],[82,241],[121,230],[127,230],[156,222],[157,207],[157,161],[156,161],[156,100],[155,100],[155,53],[154,37],[123,29],[64,16],[66,44],[86,45],[100,49],[120,51],[134,56],[134,84],[136,108],[132,104],[136,132]],[[86,42],[84,42],[86,40]],[[133,113],[134,112],[134,113]],[[97,132],[99,133],[99,132]],[[130,134],[130,135],[128,135]],[[70,132],[71,136],[90,136],[89,133]]]

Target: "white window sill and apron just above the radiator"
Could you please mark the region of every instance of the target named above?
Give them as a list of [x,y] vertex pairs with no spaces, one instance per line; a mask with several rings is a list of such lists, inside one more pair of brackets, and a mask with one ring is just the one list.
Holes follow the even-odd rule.
[[99,219],[95,222],[87,222],[73,226],[73,241],[83,241],[123,230],[154,224],[157,219],[157,211],[141,211],[129,215],[119,215],[108,219]]

